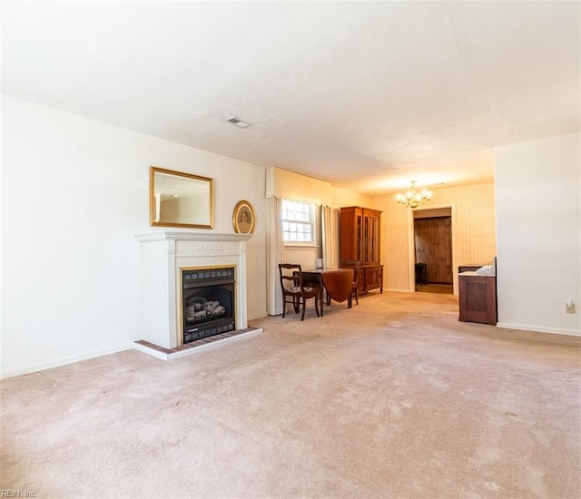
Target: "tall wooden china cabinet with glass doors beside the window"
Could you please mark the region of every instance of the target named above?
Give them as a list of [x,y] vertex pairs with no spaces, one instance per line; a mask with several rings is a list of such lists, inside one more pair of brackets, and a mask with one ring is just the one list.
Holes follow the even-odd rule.
[[359,293],[383,292],[381,265],[381,211],[349,206],[341,208],[340,261],[359,260]]

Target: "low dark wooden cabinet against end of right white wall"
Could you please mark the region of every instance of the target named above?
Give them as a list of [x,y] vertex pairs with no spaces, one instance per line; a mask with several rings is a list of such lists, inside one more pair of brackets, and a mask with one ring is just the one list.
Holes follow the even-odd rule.
[[462,322],[497,324],[497,278],[478,276],[474,271],[458,274]]

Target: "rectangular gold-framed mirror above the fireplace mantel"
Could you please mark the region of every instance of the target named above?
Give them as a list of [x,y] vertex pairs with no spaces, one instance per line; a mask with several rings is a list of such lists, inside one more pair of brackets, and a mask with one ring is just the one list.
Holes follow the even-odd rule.
[[152,166],[149,183],[152,225],[213,228],[212,179]]

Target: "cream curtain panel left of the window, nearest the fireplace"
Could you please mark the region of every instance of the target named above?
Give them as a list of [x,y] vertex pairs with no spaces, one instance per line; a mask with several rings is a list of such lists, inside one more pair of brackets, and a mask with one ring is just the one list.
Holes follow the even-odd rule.
[[282,236],[282,200],[275,196],[268,198],[266,245],[268,314],[278,316],[282,313],[279,263],[284,260],[284,240]]

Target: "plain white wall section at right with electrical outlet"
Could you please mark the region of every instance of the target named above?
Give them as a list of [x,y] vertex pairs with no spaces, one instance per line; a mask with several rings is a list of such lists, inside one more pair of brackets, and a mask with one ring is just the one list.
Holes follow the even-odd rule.
[[581,336],[579,147],[574,134],[495,152],[499,326]]

